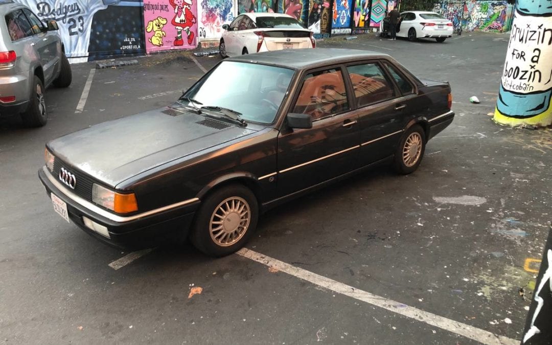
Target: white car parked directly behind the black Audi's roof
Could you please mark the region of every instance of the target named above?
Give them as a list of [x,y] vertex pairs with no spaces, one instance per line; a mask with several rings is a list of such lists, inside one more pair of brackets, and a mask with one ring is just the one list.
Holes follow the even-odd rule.
[[243,13],[222,28],[222,57],[316,47],[312,31],[287,14]]

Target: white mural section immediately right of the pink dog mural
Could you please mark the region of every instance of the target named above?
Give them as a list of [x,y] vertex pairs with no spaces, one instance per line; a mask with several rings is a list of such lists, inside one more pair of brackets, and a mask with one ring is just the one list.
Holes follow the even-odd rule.
[[201,0],[198,7],[199,38],[218,39],[222,36],[222,24],[232,22],[232,0]]

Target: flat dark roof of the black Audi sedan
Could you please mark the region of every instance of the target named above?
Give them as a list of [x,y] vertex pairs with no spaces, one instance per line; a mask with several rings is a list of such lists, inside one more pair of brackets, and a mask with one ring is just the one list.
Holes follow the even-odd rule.
[[302,70],[330,63],[343,63],[361,59],[390,58],[388,54],[369,50],[316,48],[316,49],[289,49],[273,50],[252,55],[232,57],[230,61],[262,63],[280,67]]

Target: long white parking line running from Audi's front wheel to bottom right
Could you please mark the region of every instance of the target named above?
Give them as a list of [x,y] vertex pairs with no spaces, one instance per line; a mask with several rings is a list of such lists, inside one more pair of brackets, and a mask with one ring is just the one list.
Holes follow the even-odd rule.
[[402,304],[384,297],[371,294],[367,291],[353,288],[336,280],[323,277],[322,275],[312,273],[308,270],[291,266],[288,263],[277,259],[265,256],[261,253],[242,248],[237,254],[262,263],[268,267],[276,268],[282,272],[293,275],[294,277],[306,280],[312,284],[321,286],[322,288],[334,291],[335,293],[346,295],[354,299],[367,302],[371,305],[392,311],[396,314],[410,317],[410,319],[427,323],[428,325],[442,328],[445,331],[455,333],[457,335],[473,339],[484,344],[519,344],[519,341],[505,336],[498,336],[489,331],[481,330],[465,323],[447,319],[446,317],[432,314],[431,312],[423,311],[415,307]]

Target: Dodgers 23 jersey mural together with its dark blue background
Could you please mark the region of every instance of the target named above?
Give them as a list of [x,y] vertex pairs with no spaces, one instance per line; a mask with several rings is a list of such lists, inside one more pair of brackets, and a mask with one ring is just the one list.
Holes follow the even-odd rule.
[[[102,52],[143,51],[141,46],[141,23],[136,27],[136,19],[141,22],[141,1],[130,0],[15,0],[28,6],[38,15],[40,20],[56,20],[60,28],[60,36],[68,57],[87,57],[102,54]],[[101,13],[101,14],[100,14]],[[108,18],[112,15],[120,16],[116,22],[121,23],[113,27]],[[138,17],[135,17],[138,14]],[[95,40],[91,47],[93,22],[98,20],[100,26],[95,30],[102,30],[103,38]],[[136,44],[135,44],[136,43]]]

